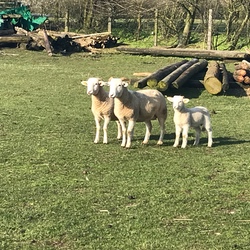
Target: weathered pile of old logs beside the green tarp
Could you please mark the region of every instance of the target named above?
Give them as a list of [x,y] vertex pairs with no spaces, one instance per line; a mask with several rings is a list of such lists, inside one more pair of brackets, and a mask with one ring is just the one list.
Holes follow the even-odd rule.
[[[1,37],[1,42],[21,44],[22,47],[28,50],[48,50],[47,41],[49,41],[53,53],[91,52],[97,48],[114,47],[119,40],[109,32],[86,35],[72,32],[46,31],[44,29],[31,32],[19,27],[15,27],[15,29],[15,36]],[[20,41],[16,39],[17,36],[20,37]]]

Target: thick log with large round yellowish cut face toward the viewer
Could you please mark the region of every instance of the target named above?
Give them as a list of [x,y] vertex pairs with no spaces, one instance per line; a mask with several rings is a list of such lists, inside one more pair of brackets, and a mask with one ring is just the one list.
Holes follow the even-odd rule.
[[210,94],[218,94],[222,90],[220,81],[220,67],[216,61],[208,64],[207,73],[204,77],[204,87]]

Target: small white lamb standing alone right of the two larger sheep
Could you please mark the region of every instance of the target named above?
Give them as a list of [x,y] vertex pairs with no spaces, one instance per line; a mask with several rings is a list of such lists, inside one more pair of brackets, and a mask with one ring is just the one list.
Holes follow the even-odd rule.
[[188,98],[176,95],[167,97],[173,103],[174,123],[175,123],[175,142],[174,147],[179,145],[180,134],[182,132],[182,148],[187,146],[189,128],[195,129],[194,145],[197,146],[200,141],[201,129],[205,128],[208,133],[208,147],[212,147],[212,127],[209,111],[205,107],[187,108],[185,103],[189,102]]

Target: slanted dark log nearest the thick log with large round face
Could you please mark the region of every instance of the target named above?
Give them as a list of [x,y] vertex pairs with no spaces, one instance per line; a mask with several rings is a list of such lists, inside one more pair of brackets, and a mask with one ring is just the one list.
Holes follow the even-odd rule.
[[200,62],[193,64],[187,68],[175,81],[172,83],[175,88],[183,86],[194,74],[197,74],[201,70],[205,69],[208,65],[207,60],[203,59]]

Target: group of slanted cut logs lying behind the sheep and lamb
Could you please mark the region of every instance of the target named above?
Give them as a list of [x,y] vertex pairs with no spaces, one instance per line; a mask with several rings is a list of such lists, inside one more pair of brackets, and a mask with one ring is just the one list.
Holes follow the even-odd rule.
[[[250,72],[250,63],[248,66]],[[216,95],[225,93],[229,87],[239,87],[235,84],[232,73],[227,71],[223,62],[208,62],[206,59],[182,60],[153,73],[134,73],[134,76],[143,77],[135,81],[135,87],[144,88],[147,86],[161,92],[166,92],[170,88],[179,89],[183,86],[205,88],[210,94]]]

